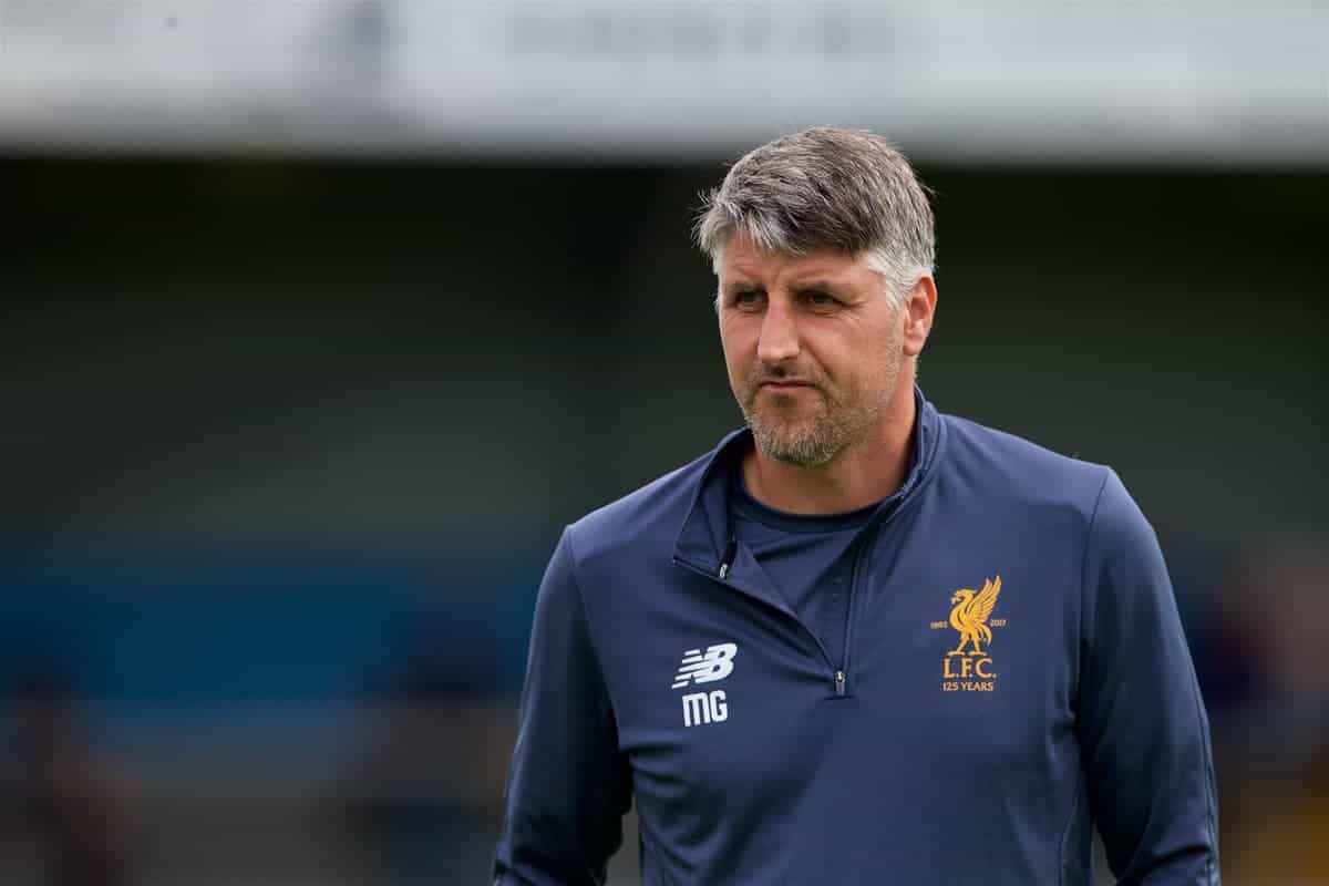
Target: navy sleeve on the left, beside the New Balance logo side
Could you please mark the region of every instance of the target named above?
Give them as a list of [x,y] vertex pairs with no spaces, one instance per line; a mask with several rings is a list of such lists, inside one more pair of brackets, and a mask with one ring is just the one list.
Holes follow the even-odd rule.
[[494,886],[603,883],[631,776],[563,531],[536,598]]

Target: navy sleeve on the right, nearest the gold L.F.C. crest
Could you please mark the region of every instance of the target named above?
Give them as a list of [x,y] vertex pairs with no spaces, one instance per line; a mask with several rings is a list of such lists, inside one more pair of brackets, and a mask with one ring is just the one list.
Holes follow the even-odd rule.
[[1152,527],[1108,472],[1084,551],[1078,731],[1120,883],[1219,882],[1209,724]]

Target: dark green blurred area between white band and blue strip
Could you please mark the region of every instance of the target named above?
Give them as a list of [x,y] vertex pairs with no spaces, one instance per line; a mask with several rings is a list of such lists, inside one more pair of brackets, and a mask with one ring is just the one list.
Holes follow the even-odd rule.
[[[3,167],[11,531],[553,529],[738,413],[719,169]],[[1325,175],[922,170],[942,409],[1164,530],[1325,526]]]

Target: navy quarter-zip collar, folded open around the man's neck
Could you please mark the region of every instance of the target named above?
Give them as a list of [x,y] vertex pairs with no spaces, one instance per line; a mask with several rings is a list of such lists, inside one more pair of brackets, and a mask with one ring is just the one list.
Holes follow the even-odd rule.
[[[914,387],[914,404],[917,406],[916,433],[909,472],[900,489],[877,505],[864,530],[889,518],[910,501],[932,477],[933,465],[941,452],[945,424],[917,385]],[[683,519],[674,546],[674,561],[699,573],[720,578],[777,608],[788,610],[779,595],[772,588],[766,587],[766,582],[747,580],[759,567],[744,546],[734,543],[730,518],[730,482],[734,472],[742,469],[743,453],[751,445],[752,432],[742,428],[727,434],[712,450],[710,461],[702,470],[692,503],[688,506],[687,517]],[[724,575],[720,575],[722,571]]]

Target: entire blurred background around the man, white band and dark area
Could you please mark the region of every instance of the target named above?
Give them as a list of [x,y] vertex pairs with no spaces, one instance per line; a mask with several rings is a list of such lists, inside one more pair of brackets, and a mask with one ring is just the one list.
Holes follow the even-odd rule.
[[1227,882],[1329,883],[1326,33],[0,0],[0,882],[488,882],[561,527],[739,421],[699,193],[837,124],[936,191],[928,396],[1158,529]]

